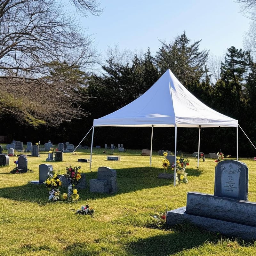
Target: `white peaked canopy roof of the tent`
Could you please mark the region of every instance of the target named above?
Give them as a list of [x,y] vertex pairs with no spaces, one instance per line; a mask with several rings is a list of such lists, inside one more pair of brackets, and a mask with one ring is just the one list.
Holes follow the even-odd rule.
[[209,108],[168,69],[139,98],[93,120],[93,126],[238,127],[238,121]]

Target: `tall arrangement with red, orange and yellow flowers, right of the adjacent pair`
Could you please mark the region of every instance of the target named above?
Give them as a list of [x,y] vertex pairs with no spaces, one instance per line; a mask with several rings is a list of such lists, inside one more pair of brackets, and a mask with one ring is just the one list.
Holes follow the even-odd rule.
[[78,180],[81,179],[81,173],[79,172],[80,168],[81,166],[72,167],[71,165],[66,168],[66,174],[64,174],[64,176],[68,183],[68,201],[77,201],[79,199],[75,186],[78,183]]

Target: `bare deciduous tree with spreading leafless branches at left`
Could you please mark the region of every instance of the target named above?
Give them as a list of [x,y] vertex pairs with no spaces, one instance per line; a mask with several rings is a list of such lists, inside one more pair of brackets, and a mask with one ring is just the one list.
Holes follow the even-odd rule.
[[[81,12],[99,14],[95,0],[73,1]],[[99,12],[97,12],[99,10]],[[49,63],[81,70],[95,63],[97,52],[74,16],[55,0],[0,1],[0,114],[23,121],[59,124],[86,115],[77,83],[56,80]]]

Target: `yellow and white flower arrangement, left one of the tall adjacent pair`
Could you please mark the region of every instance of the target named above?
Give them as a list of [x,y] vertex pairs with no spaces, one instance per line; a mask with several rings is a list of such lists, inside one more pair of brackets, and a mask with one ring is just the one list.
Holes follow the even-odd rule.
[[60,199],[60,191],[59,187],[61,186],[61,181],[57,178],[57,175],[55,172],[49,171],[47,173],[47,179],[44,181],[44,184],[46,184],[46,187],[49,190],[49,200],[52,201],[58,201]]

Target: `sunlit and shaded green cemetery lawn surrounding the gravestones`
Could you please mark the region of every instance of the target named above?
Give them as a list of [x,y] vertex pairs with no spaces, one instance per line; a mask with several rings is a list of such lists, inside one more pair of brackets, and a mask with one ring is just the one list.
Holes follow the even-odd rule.
[[[10,157],[9,166],[0,167],[0,255],[256,255],[254,242],[227,238],[189,224],[168,228],[163,220],[152,218],[166,208],[185,206],[189,191],[213,194],[214,159],[200,159],[197,169],[197,159],[189,157],[189,182],[174,187],[173,180],[157,178],[164,172],[163,156],[157,152],[153,152],[149,167],[149,156],[141,156],[141,150],[114,151],[121,161],[107,161],[111,150],[106,154],[103,151],[93,149],[92,172],[90,163],[77,162],[78,158],[90,158],[89,149],[77,150],[76,156],[64,153],[63,162],[46,162],[48,152],[40,152],[40,157],[28,156],[28,169],[33,172],[11,174],[18,159],[15,156]],[[256,202],[256,161],[239,161],[249,168],[248,199]],[[28,183],[39,179],[38,165],[42,163],[52,164],[58,174],[64,174],[69,165],[81,166],[87,188],[78,190],[77,202],[50,202],[45,185]],[[97,178],[100,166],[116,170],[116,194],[89,192],[89,180]],[[60,190],[67,192],[66,188]],[[95,209],[93,218],[72,211],[86,204]]]

